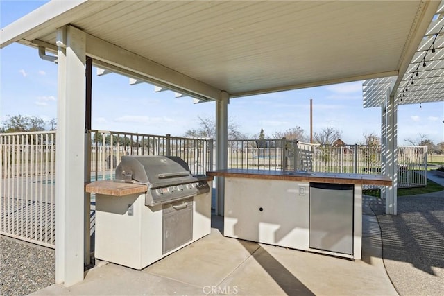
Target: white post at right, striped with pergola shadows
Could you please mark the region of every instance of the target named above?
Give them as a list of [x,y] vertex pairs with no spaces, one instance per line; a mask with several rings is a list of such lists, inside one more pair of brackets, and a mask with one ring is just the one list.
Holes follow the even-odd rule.
[[385,108],[385,147],[382,162],[385,163],[385,174],[393,181],[392,186],[388,186],[385,190],[386,197],[386,214],[397,214],[398,200],[398,106],[395,103],[395,95],[390,95],[388,90],[386,96]]

